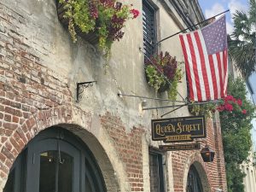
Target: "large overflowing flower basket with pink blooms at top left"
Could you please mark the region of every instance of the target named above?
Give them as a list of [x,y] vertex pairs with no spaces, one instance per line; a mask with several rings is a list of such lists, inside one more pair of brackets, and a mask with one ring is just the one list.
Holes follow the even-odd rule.
[[125,21],[139,15],[132,5],[123,5],[116,0],[59,0],[58,18],[68,28],[73,42],[77,35],[90,44],[99,44],[106,55],[113,41],[124,36]]

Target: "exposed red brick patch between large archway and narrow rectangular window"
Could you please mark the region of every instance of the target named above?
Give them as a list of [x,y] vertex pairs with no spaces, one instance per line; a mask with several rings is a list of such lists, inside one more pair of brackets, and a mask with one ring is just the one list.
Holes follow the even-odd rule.
[[102,126],[113,139],[119,158],[125,164],[125,170],[131,191],[143,190],[143,154],[142,135],[143,128],[134,127],[131,132],[125,131],[125,126],[119,118],[110,113],[102,116]]

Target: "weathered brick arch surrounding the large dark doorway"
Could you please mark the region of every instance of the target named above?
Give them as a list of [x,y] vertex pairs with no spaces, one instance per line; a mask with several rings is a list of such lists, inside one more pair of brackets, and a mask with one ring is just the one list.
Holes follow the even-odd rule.
[[[123,165],[116,163],[117,160],[114,160],[113,157],[109,157],[109,154],[116,153],[115,148],[112,146],[112,143],[106,145],[105,141],[100,142],[96,132],[91,132],[91,126],[94,126],[93,130],[102,130],[101,125],[96,125],[92,121],[91,114],[85,113],[80,108],[75,106],[59,106],[38,110],[25,119],[21,125],[16,125],[12,122],[5,124],[6,126],[3,125],[4,131],[2,134],[4,134],[4,140],[2,138],[3,142],[0,147],[0,192],[3,191],[9,170],[15,158],[26,147],[26,144],[40,131],[55,125],[72,131],[88,145],[102,170],[108,191],[119,191],[120,188],[127,189],[129,184],[122,181],[125,180]],[[125,183],[124,185],[127,186],[120,186],[120,183]]]

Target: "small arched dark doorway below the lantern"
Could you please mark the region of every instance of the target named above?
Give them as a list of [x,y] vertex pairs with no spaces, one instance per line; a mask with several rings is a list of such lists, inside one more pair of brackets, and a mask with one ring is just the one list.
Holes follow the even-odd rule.
[[190,166],[187,178],[187,192],[203,192],[201,179],[194,165]]

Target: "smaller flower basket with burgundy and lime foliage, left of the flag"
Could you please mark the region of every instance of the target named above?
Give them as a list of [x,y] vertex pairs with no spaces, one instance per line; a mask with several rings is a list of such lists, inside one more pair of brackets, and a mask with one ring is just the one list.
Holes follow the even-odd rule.
[[165,55],[152,55],[145,62],[145,73],[148,84],[157,92],[168,91],[170,99],[177,96],[177,83],[182,79],[181,69],[177,68],[177,61],[167,51]]

